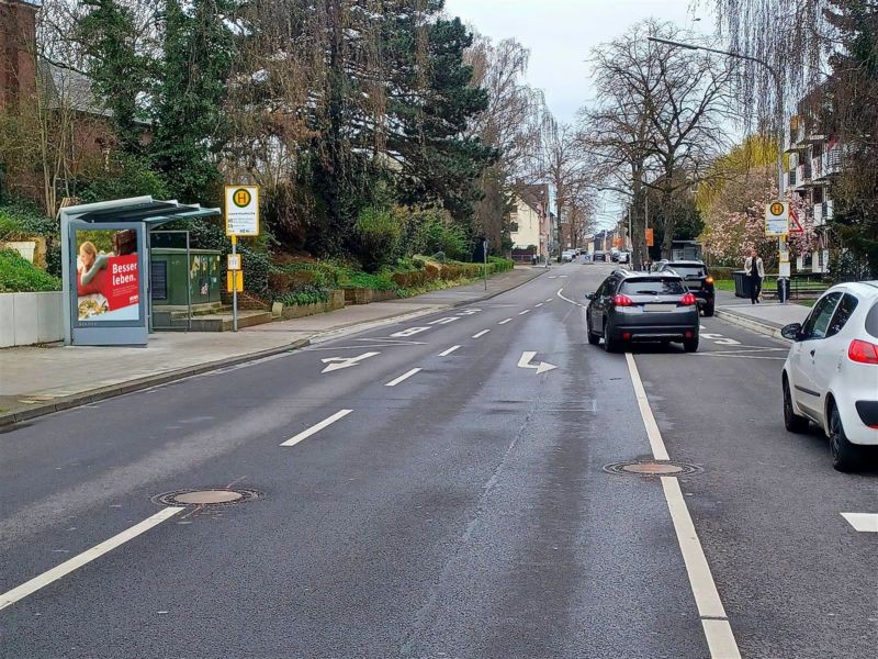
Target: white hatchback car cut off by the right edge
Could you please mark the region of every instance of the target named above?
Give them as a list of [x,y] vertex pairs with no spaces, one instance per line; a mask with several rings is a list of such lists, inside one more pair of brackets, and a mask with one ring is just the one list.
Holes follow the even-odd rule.
[[784,423],[819,425],[840,471],[863,466],[878,446],[878,281],[829,289],[804,323],[781,330],[793,342],[784,364]]

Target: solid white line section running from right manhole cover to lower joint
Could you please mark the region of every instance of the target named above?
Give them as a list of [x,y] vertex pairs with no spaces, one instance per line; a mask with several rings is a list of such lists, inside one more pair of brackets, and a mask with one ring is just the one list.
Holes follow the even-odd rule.
[[676,478],[663,476],[662,489],[667,499],[667,509],[671,511],[671,520],[674,522],[674,530],[677,532],[677,540],[683,552],[683,560],[686,563],[686,572],[689,574],[689,583],[693,587],[695,604],[698,606],[698,615],[710,618],[724,618],[725,608],[722,606],[720,594],[717,592],[717,584],[713,583],[713,576],[710,573],[710,566],[707,565],[705,551],[695,533],[695,525],[683,499],[683,491],[679,489],[679,481]]

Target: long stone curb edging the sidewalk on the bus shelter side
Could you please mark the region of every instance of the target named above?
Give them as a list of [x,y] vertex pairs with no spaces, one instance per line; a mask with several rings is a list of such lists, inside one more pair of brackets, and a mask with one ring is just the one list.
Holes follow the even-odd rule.
[[373,327],[380,327],[381,325],[389,325],[392,323],[397,323],[399,321],[430,315],[432,313],[439,313],[447,309],[455,309],[458,306],[464,306],[466,304],[472,304],[474,302],[491,300],[492,298],[496,298],[497,295],[502,295],[503,293],[508,293],[509,291],[514,291],[515,289],[525,286],[526,283],[529,283],[541,276],[542,272],[540,275],[537,275],[537,277],[531,277],[530,279],[517,283],[511,288],[505,289],[503,291],[496,291],[494,293],[483,295],[481,298],[474,298],[472,300],[461,300],[459,302],[454,302],[453,304],[437,305],[436,309],[404,313],[375,321],[349,323],[347,325],[341,325],[333,330],[315,333],[309,338],[296,339],[291,344],[286,344],[285,346],[278,346],[277,348],[259,350],[258,353],[247,353],[245,355],[238,355],[237,357],[230,357],[217,361],[207,361],[205,364],[200,364],[198,366],[191,366],[179,370],[157,373],[155,376],[147,376],[145,378],[130,380],[127,382],[122,382],[120,384],[109,384],[106,387],[101,387],[100,389],[92,389],[91,391],[83,391],[82,393],[75,393],[72,395],[61,396],[52,402],[34,405],[33,407],[27,407],[26,410],[20,410],[18,412],[0,413],[0,427],[9,426],[15,423],[22,423],[24,421],[31,421],[32,418],[37,418],[38,416],[45,416],[46,414],[52,414],[54,412],[60,412],[63,410],[70,410],[71,407],[78,407],[80,405],[95,403],[98,401],[115,398],[117,395],[124,395],[126,393],[133,393],[135,391],[143,391],[144,389],[158,387],[160,384],[167,384],[176,380],[183,380],[185,378],[191,378],[192,376],[200,376],[202,373],[219,370],[222,368],[238,366],[240,364],[247,364],[249,361],[258,361],[259,359],[263,359],[266,357],[273,357],[274,355],[282,355],[283,353],[292,353],[293,350],[299,350],[300,348],[304,348],[311,345],[312,342],[320,342],[329,338],[335,338],[336,334],[345,334],[346,331],[348,331],[348,333],[352,333],[352,331],[354,331],[356,328],[361,328],[363,332],[365,332]]

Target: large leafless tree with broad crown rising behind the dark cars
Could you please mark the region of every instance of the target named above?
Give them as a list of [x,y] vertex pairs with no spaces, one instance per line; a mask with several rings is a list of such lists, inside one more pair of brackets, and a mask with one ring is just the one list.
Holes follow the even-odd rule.
[[[630,176],[635,202],[644,186],[661,190],[662,252],[669,257],[674,197],[702,180],[725,145],[734,69],[727,58],[656,45],[649,36],[682,37],[673,25],[650,20],[595,51],[598,103],[584,112],[582,127],[584,141],[605,154],[606,171],[623,168]],[[644,254],[644,226],[634,232],[635,260]]]

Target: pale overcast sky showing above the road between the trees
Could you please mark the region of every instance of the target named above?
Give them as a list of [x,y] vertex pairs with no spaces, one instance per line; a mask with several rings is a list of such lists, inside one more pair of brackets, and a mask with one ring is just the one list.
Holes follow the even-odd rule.
[[[542,89],[552,114],[574,122],[593,96],[588,80],[592,48],[649,18],[712,35],[710,0],[693,11],[693,0],[446,0],[446,10],[480,33],[500,41],[515,37],[530,49],[528,81]],[[696,21],[695,19],[700,19]],[[608,198],[598,211],[603,226],[620,213]]]

